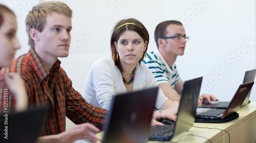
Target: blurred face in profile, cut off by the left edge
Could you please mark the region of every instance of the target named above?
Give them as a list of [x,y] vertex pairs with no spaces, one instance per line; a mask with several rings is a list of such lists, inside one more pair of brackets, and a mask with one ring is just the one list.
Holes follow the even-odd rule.
[[10,13],[4,13],[4,23],[0,27],[0,68],[10,66],[15,51],[20,48],[16,37],[17,22]]

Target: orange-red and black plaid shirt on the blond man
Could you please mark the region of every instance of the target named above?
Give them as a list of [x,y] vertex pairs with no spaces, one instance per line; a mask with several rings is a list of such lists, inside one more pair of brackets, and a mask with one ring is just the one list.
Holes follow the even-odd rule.
[[[74,90],[72,81],[60,67],[59,60],[48,72],[40,62],[35,50],[31,48],[27,54],[15,59],[10,67],[1,70],[0,81],[3,78],[2,75],[9,72],[22,75],[30,106],[42,107],[49,104],[50,111],[42,135],[65,131],[66,116],[75,124],[89,122],[96,127],[102,127],[106,110],[89,104],[80,93]],[[1,114],[5,111],[4,89],[6,86],[1,82]],[[14,105],[15,97],[8,92],[8,110],[15,110]]]

